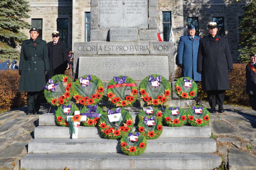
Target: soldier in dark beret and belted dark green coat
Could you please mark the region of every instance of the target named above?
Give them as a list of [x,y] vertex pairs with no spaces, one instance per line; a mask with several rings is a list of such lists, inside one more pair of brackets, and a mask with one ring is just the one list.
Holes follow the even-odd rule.
[[27,115],[38,114],[41,91],[45,87],[45,75],[49,72],[46,41],[37,38],[39,31],[30,29],[30,39],[22,42],[19,61],[19,91],[27,93]]

